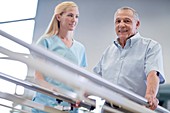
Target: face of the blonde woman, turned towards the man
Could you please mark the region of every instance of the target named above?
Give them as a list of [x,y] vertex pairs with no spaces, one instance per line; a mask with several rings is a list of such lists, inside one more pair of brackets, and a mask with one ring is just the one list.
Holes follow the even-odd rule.
[[60,29],[73,31],[78,24],[79,11],[77,7],[69,7],[58,16]]

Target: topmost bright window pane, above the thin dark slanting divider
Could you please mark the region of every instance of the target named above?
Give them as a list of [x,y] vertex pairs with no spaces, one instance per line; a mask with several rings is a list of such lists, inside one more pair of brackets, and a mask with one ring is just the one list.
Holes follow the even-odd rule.
[[35,18],[38,0],[1,0],[0,22]]

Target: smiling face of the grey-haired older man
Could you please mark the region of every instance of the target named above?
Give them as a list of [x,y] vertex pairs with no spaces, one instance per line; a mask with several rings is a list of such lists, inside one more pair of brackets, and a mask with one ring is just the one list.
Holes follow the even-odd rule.
[[138,27],[139,21],[131,10],[119,10],[115,15],[115,31],[119,38],[127,39],[136,34]]

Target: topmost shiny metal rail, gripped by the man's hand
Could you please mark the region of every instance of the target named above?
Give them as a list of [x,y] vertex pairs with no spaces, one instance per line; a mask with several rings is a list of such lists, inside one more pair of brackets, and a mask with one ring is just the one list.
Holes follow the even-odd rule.
[[[64,59],[61,59],[60,57],[56,56],[55,54],[53,54],[47,50],[44,50],[36,45],[29,45],[13,36],[7,34],[6,32],[4,32],[2,30],[0,30],[0,34],[4,37],[7,37],[10,40],[13,40],[16,43],[19,43],[20,45],[23,45],[24,47],[27,47],[30,51],[38,53],[39,55],[42,55],[42,56],[48,58],[52,62],[60,64],[60,66],[64,66],[64,68],[66,68],[67,70],[71,70],[74,73],[77,73],[85,78],[88,78],[89,80],[95,82],[96,84],[104,86],[112,91],[118,92],[119,94],[122,94],[122,95],[126,96],[127,98],[129,98],[139,104],[146,105],[146,106],[148,105],[147,100],[145,98],[140,97],[139,95],[136,95],[135,93],[131,93],[128,90],[125,90],[117,85],[111,84],[108,81],[106,81],[100,77],[97,77],[95,74],[90,73],[87,70],[82,69],[70,62],[67,62]],[[168,110],[162,108],[161,106],[158,106],[157,111],[164,112],[164,113],[170,113]]]

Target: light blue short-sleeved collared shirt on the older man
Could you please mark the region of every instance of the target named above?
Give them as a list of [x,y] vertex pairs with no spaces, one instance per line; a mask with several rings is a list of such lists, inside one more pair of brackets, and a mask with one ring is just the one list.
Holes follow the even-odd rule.
[[145,96],[146,78],[156,70],[164,83],[162,49],[159,43],[139,33],[127,40],[124,48],[114,41],[103,53],[93,71],[113,84]]

